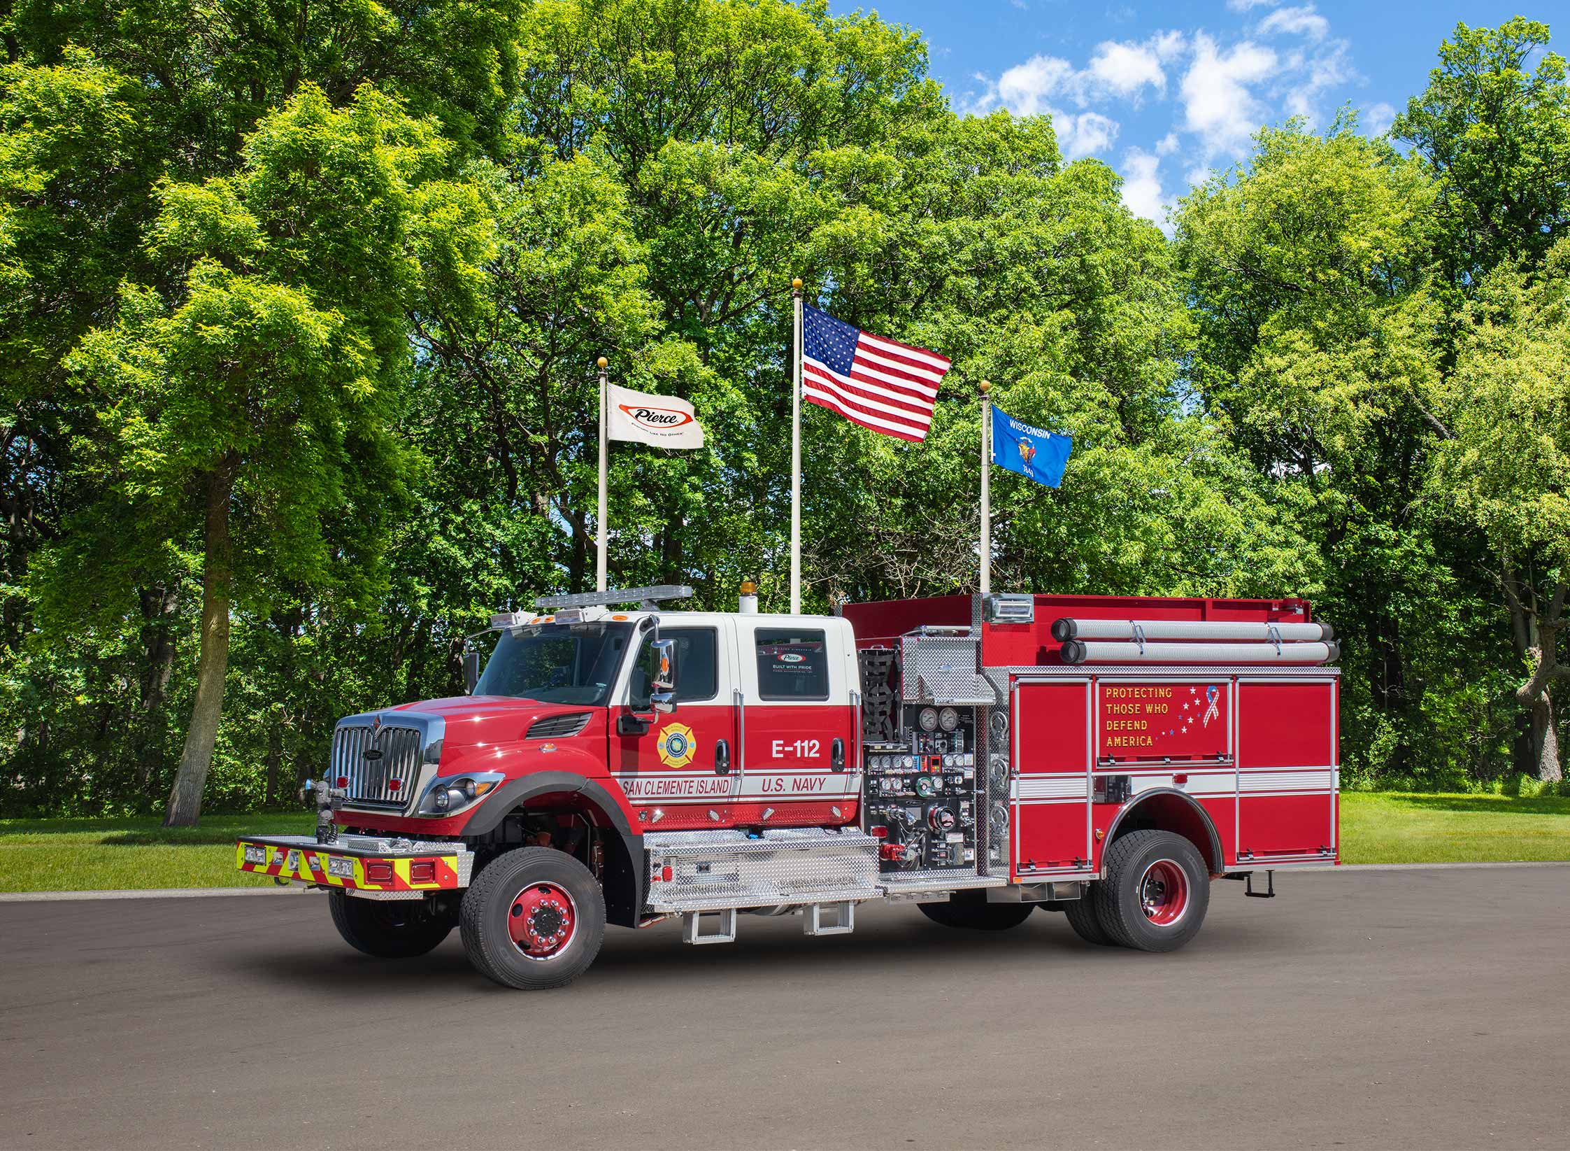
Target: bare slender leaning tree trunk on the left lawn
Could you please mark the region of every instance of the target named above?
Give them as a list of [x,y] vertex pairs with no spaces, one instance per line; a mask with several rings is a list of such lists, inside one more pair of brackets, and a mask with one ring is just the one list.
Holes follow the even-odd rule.
[[206,556],[201,573],[201,655],[196,658],[196,700],[185,729],[185,751],[170,788],[165,828],[195,828],[201,793],[212,768],[223,713],[223,678],[229,669],[229,495],[234,460],[226,459],[204,484],[207,504]]

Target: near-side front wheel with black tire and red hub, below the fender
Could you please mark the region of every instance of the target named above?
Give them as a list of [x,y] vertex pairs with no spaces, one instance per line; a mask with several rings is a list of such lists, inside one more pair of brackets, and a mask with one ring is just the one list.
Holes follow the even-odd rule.
[[[537,931],[532,939],[540,955],[513,941],[513,920],[524,934]],[[567,853],[518,848],[480,870],[463,897],[458,926],[469,963],[487,978],[520,991],[560,988],[582,975],[600,953],[604,892],[589,868]],[[559,931],[567,937],[546,942]]]

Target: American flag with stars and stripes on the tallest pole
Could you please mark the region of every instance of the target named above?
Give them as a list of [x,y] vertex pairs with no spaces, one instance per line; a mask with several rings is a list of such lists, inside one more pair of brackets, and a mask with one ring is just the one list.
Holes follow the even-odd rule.
[[853,424],[920,443],[933,426],[937,385],[947,372],[948,360],[936,352],[802,308],[802,399]]

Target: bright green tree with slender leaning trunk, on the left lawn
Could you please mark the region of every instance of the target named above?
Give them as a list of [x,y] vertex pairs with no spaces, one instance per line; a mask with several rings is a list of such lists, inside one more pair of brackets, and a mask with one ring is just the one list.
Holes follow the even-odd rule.
[[284,581],[377,587],[405,471],[388,435],[405,311],[425,264],[473,267],[488,237],[473,192],[432,179],[446,151],[433,122],[369,86],[344,110],[303,86],[234,177],[160,187],[152,245],[184,265],[179,287],[127,284],[115,323],[72,353],[102,424],[80,465],[100,496],[53,556],[57,619],[83,578],[115,611],[135,567],[199,540],[201,656],[170,824],[201,809],[234,600],[265,603]]

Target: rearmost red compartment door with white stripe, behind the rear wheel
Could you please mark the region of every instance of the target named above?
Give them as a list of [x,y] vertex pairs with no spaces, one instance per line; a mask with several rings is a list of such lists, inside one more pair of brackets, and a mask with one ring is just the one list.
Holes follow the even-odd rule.
[[1336,790],[1336,681],[1239,678],[1239,861],[1333,856]]

